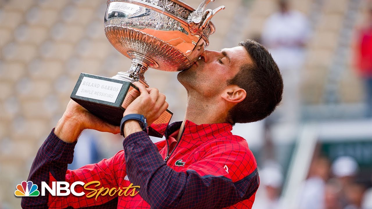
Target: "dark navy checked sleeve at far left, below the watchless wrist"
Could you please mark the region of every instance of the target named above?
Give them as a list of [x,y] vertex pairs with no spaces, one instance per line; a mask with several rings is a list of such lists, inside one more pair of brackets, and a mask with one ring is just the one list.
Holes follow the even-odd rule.
[[[32,181],[41,188],[41,182],[49,183],[49,172],[57,181],[63,181],[67,171],[67,164],[72,163],[76,142],[67,143],[54,134],[54,129],[39,148],[33,160],[27,181]],[[48,196],[22,197],[23,209],[48,208]]]

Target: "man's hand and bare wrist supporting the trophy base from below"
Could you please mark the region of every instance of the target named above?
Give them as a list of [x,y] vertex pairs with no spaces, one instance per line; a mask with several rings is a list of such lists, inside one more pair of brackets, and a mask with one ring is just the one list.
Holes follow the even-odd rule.
[[120,133],[119,126],[104,122],[75,101],[70,100],[62,118],[55,126],[54,134],[64,142],[73,143],[84,129],[95,129],[113,134]]

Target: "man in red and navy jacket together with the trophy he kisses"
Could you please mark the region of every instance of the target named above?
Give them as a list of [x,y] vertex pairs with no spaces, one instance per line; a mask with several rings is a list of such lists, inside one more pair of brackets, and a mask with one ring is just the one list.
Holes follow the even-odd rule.
[[[86,109],[68,103],[28,177],[38,186],[93,181],[107,190],[98,199],[73,194],[23,197],[22,208],[252,208],[259,187],[257,161],[247,140],[231,130],[235,123],[269,116],[282,100],[283,79],[270,53],[256,41],[204,50],[215,30],[210,20],[224,8],[205,10],[211,1],[196,10],[179,0],[108,1],[106,36],[132,59],[132,66],[112,78],[81,74],[71,98]],[[187,91],[183,121],[167,126],[171,113],[164,94],[146,88],[143,74],[148,67],[187,69],[177,75]],[[109,159],[68,170],[84,129],[121,132],[123,149]],[[149,131],[160,137],[164,133],[166,139],[153,143]],[[113,193],[133,185],[140,187],[139,195]]]

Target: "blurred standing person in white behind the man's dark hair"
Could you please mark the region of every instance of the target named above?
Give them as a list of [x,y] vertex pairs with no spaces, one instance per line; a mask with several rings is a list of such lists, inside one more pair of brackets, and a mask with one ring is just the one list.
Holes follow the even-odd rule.
[[271,15],[262,32],[262,42],[269,49],[282,72],[284,91],[279,107],[281,122],[297,122],[299,116],[299,81],[310,35],[307,18],[291,10],[288,1],[278,2],[279,12]]

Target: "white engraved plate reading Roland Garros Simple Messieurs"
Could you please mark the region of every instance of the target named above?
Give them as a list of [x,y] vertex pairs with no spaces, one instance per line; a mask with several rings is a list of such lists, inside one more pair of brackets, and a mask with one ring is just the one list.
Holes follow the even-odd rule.
[[76,96],[115,103],[123,84],[84,77]]

